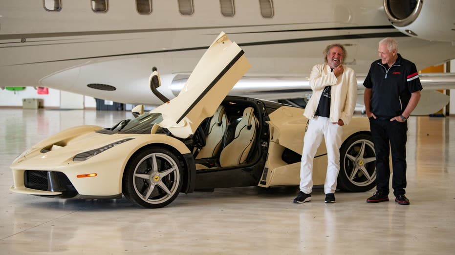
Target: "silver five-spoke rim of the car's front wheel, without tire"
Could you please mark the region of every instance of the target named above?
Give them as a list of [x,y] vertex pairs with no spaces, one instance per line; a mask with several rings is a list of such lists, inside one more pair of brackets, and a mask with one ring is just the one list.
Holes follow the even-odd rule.
[[178,192],[180,172],[175,160],[164,153],[143,157],[133,173],[134,191],[149,204],[161,204]]

